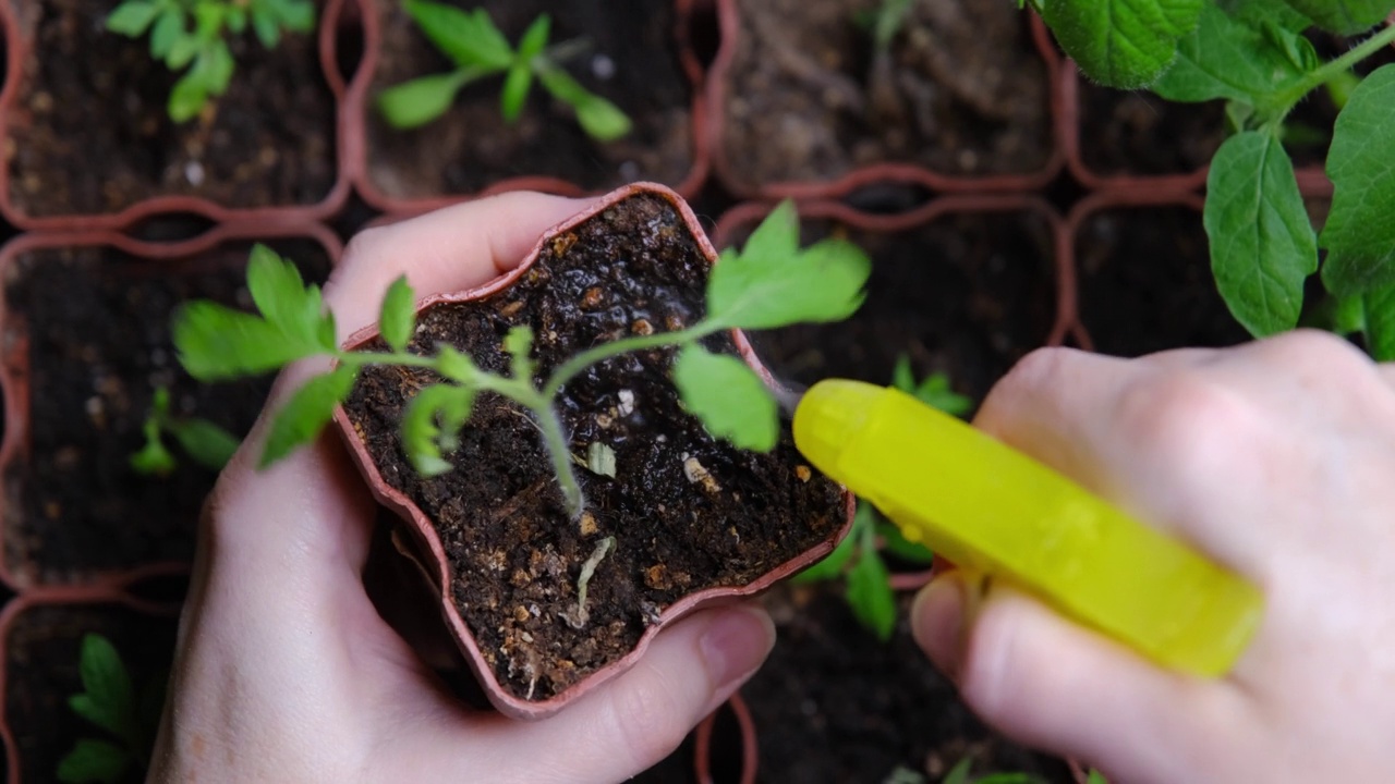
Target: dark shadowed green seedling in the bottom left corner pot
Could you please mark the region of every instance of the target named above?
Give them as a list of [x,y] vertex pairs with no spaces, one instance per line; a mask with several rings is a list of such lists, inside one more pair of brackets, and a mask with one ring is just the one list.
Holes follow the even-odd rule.
[[59,760],[56,777],[68,784],[116,784],[135,766],[149,767],[165,703],[165,679],[137,691],[120,653],[102,635],[84,635],[78,658],[82,692],[68,698],[73,713],[100,737],[78,738]]

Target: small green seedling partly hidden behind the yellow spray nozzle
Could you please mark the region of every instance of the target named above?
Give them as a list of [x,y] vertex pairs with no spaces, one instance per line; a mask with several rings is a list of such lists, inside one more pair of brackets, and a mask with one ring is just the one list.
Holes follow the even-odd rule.
[[[917,381],[905,354],[897,359],[891,371],[891,385],[950,416],[963,417],[974,410],[971,398],[951,389],[949,375],[935,372]],[[880,550],[877,540],[882,541]],[[869,501],[858,498],[848,537],[827,558],[801,572],[795,580],[809,583],[845,579],[844,597],[852,608],[852,615],[879,640],[887,642],[896,631],[896,594],[891,591],[891,573],[882,552],[926,568],[935,561],[935,554],[929,548],[901,536],[901,529],[896,523],[887,520]]]

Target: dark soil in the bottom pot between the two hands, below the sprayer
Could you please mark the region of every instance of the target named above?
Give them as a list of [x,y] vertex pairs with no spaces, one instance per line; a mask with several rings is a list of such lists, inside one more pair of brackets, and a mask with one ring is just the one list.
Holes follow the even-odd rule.
[[840,587],[783,585],[766,596],[777,640],[742,686],[760,749],[759,781],[865,784],[897,769],[940,781],[963,757],[974,776],[1032,773],[1073,781],[1057,759],[981,724],[911,638],[910,596],[882,643],[858,625]]

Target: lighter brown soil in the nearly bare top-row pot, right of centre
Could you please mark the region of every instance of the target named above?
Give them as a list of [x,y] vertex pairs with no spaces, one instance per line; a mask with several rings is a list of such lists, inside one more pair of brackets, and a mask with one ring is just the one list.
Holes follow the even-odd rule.
[[1046,66],[1011,3],[915,3],[883,54],[879,0],[741,0],[723,149],[748,187],[872,163],[1028,173],[1050,156]]

